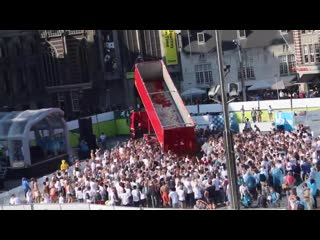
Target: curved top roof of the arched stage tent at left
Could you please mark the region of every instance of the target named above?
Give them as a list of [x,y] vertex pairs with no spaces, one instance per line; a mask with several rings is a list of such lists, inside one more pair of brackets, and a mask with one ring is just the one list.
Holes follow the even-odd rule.
[[0,112],[0,139],[23,139],[34,125],[37,129],[63,128],[63,116],[59,108]]

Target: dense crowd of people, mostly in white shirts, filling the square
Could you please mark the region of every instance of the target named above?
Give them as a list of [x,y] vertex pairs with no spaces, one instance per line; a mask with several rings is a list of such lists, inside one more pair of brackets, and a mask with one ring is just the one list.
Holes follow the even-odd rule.
[[[320,138],[302,125],[295,132],[234,134],[239,199],[245,208],[313,209],[320,189]],[[84,168],[64,161],[40,188],[24,178],[28,203],[215,209],[229,206],[230,188],[221,134],[198,132],[201,155],[178,156],[159,144],[128,140],[91,151]],[[301,189],[301,191],[299,190]],[[299,192],[300,191],[300,192]],[[282,199],[284,198],[284,199]],[[285,200],[284,203],[282,200]],[[10,204],[21,200],[12,196]],[[285,205],[285,206],[284,206]]]

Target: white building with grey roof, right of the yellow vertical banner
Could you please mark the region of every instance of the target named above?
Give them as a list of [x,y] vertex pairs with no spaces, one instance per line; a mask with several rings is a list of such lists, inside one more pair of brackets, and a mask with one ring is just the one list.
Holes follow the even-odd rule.
[[[181,92],[190,88],[208,90],[219,84],[219,71],[214,30],[181,32],[183,50]],[[293,80],[296,73],[292,32],[287,30],[223,30],[221,34],[223,60],[228,66],[228,83],[241,83],[240,54],[245,86],[257,81],[270,84]],[[227,86],[226,86],[227,87]]]

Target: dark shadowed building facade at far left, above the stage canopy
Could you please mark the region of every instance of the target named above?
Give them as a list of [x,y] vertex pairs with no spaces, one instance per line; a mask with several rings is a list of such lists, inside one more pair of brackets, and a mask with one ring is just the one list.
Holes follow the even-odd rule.
[[36,30],[0,31],[2,111],[50,106],[45,91],[41,38]]

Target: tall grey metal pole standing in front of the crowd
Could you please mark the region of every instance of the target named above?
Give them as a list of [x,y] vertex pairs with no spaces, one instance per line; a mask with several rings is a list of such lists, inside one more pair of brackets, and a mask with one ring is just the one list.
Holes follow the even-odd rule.
[[220,31],[215,30],[216,36],[216,44],[217,44],[217,56],[218,56],[218,67],[219,67],[219,78],[220,78],[220,86],[221,86],[221,102],[223,107],[223,117],[224,117],[224,140],[225,140],[225,147],[227,153],[227,171],[228,171],[228,179],[229,179],[229,186],[231,191],[231,199],[230,205],[231,209],[240,209],[240,202],[239,202],[239,194],[238,194],[238,187],[237,187],[237,174],[236,174],[236,162],[233,150],[233,140],[232,140],[232,133],[230,130],[230,122],[229,122],[229,112],[228,112],[228,103],[226,98],[225,86],[224,86],[224,66],[223,66],[223,59],[222,59],[222,46],[221,46],[221,38],[220,38]]

